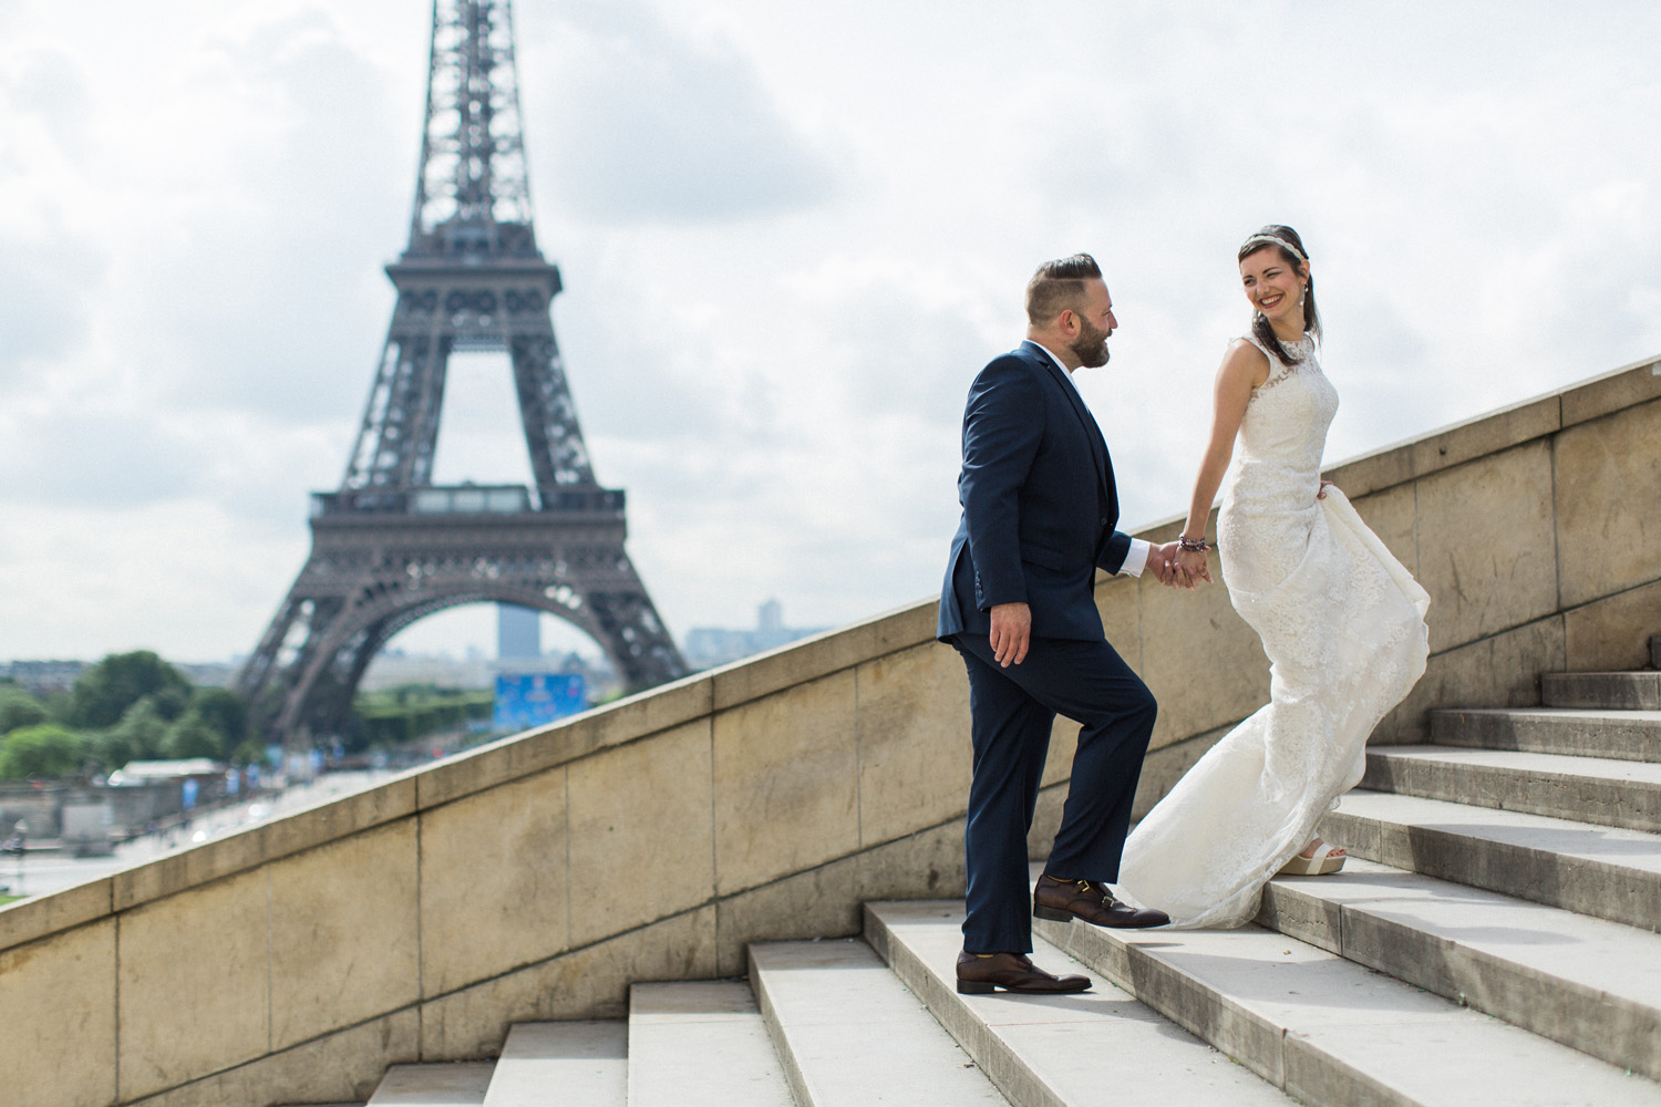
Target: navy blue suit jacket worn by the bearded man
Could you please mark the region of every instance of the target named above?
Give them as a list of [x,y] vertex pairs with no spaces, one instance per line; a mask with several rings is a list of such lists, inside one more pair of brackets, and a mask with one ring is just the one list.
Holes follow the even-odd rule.
[[940,589],[937,634],[992,631],[995,604],[1031,607],[1035,637],[1101,641],[1096,568],[1129,553],[1101,428],[1033,342],[995,358],[968,388],[963,521]]

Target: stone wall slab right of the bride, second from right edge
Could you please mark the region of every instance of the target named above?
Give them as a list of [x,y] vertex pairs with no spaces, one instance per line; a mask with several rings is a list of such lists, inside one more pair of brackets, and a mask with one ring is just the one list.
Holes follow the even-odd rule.
[[1418,579],[1442,652],[1556,609],[1551,446],[1533,441],[1418,481]]

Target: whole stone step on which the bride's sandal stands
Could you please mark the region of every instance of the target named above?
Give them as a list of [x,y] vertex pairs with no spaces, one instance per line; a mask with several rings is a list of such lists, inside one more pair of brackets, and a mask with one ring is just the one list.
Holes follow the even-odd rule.
[[1362,858],[1269,881],[1257,923],[1661,1079],[1661,934]]

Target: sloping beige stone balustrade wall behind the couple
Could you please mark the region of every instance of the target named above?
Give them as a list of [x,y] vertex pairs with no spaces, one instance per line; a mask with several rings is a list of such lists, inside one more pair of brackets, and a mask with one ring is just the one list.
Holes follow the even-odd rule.
[[[1329,476],[1433,599],[1428,672],[1374,740],[1538,702],[1541,671],[1646,662],[1661,363]],[[1267,664],[1222,588],[1103,578],[1096,599],[1161,704],[1146,810],[1267,699]],[[389,1064],[493,1056],[515,1021],[621,1016],[630,981],[739,974],[751,939],[852,934],[864,900],[960,895],[967,685],[933,621],[924,601],[0,909],[0,1097],[364,1099]]]

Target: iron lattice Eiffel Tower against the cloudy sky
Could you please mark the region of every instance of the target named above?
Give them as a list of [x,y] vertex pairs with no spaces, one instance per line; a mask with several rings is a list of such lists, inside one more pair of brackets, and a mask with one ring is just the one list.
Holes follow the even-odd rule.
[[[341,490],[238,674],[269,740],[339,734],[369,661],[445,607],[507,602],[586,631],[631,689],[686,672],[623,549],[623,491],[588,461],[537,247],[508,0],[435,0],[427,119],[399,299]],[[535,488],[432,483],[455,352],[507,352]]]

